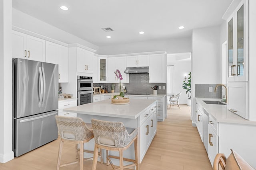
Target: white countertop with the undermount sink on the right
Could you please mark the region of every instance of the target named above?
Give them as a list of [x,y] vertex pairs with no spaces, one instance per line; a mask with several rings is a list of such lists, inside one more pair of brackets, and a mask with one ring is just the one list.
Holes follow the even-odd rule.
[[256,121],[246,120],[239,115],[229,111],[226,105],[219,104],[206,104],[203,100],[207,101],[221,101],[221,99],[216,98],[196,98],[198,102],[208,114],[210,114],[217,122],[220,123],[239,123],[247,125],[256,125]]

